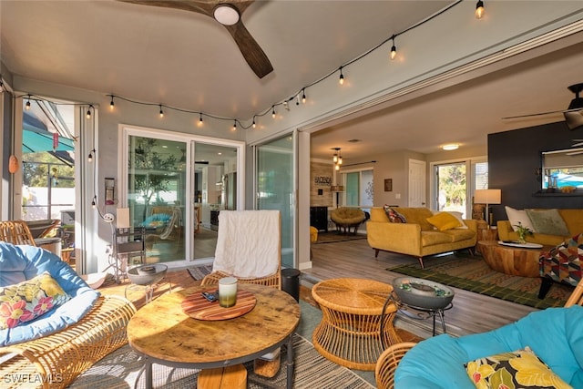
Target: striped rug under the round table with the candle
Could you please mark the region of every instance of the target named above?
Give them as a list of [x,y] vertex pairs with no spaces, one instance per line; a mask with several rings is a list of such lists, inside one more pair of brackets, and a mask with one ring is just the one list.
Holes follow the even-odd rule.
[[[373,388],[361,377],[336,363],[322,357],[312,343],[297,333],[293,336],[295,362],[294,388],[332,388],[354,389]],[[250,389],[282,388],[286,383],[286,352],[281,349],[281,369],[273,378],[263,378],[253,373],[253,362],[245,363],[247,368],[247,387]],[[69,388],[92,389],[127,389],[143,388],[145,380],[140,374],[143,366],[138,354],[126,345],[114,353],[108,354],[101,361],[81,374]],[[170,368],[159,364],[153,366],[153,387],[165,389],[196,388],[198,371],[185,368]],[[138,380],[138,381],[137,381]]]

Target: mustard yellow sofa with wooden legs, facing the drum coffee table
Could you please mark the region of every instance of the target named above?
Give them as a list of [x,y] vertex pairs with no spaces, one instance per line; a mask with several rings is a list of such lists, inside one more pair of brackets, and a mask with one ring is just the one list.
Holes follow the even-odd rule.
[[447,251],[469,249],[473,252],[477,239],[477,220],[464,220],[467,229],[435,230],[427,218],[433,212],[427,208],[397,208],[406,223],[392,223],[383,208],[372,208],[366,223],[366,239],[374,249],[413,255],[424,268],[423,257]]

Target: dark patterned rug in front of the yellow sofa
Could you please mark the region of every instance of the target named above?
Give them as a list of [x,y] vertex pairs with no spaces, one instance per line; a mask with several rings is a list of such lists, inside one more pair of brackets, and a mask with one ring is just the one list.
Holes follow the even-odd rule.
[[496,297],[508,302],[517,302],[538,309],[563,306],[573,288],[554,283],[544,300],[538,299],[540,278],[528,278],[507,275],[493,271],[479,257],[463,257],[448,255],[444,257],[427,258],[425,269],[420,269],[418,263],[389,268],[411,277],[423,278],[433,282],[465,291],[477,292]]

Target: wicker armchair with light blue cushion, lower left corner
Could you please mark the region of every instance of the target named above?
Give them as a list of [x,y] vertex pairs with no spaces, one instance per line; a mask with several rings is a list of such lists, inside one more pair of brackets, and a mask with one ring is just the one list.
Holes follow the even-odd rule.
[[[15,335],[15,330],[20,327],[0,330],[0,342],[5,344],[0,346],[0,377],[7,387],[64,388],[92,364],[128,343],[126,327],[136,312],[134,305],[122,297],[96,295],[97,292],[55,254],[30,245],[14,246],[2,242],[0,269],[3,269],[0,287],[48,271],[72,296],[60,307],[63,308],[60,311],[62,316],[59,312],[52,319],[49,312],[30,322],[36,327],[46,328],[46,334],[36,333],[30,338],[26,335],[22,339],[23,335]],[[93,304],[89,305],[90,302]],[[82,315],[81,312],[86,310],[87,313]],[[53,330],[56,332],[50,332],[48,329],[55,327],[45,324],[48,322],[63,325]],[[66,323],[70,324],[67,326]]]

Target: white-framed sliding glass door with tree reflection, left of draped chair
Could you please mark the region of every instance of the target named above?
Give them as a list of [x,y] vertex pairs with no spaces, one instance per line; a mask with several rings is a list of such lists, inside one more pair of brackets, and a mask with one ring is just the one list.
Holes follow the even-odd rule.
[[146,229],[148,263],[214,257],[219,213],[244,204],[244,143],[123,128],[119,207]]

